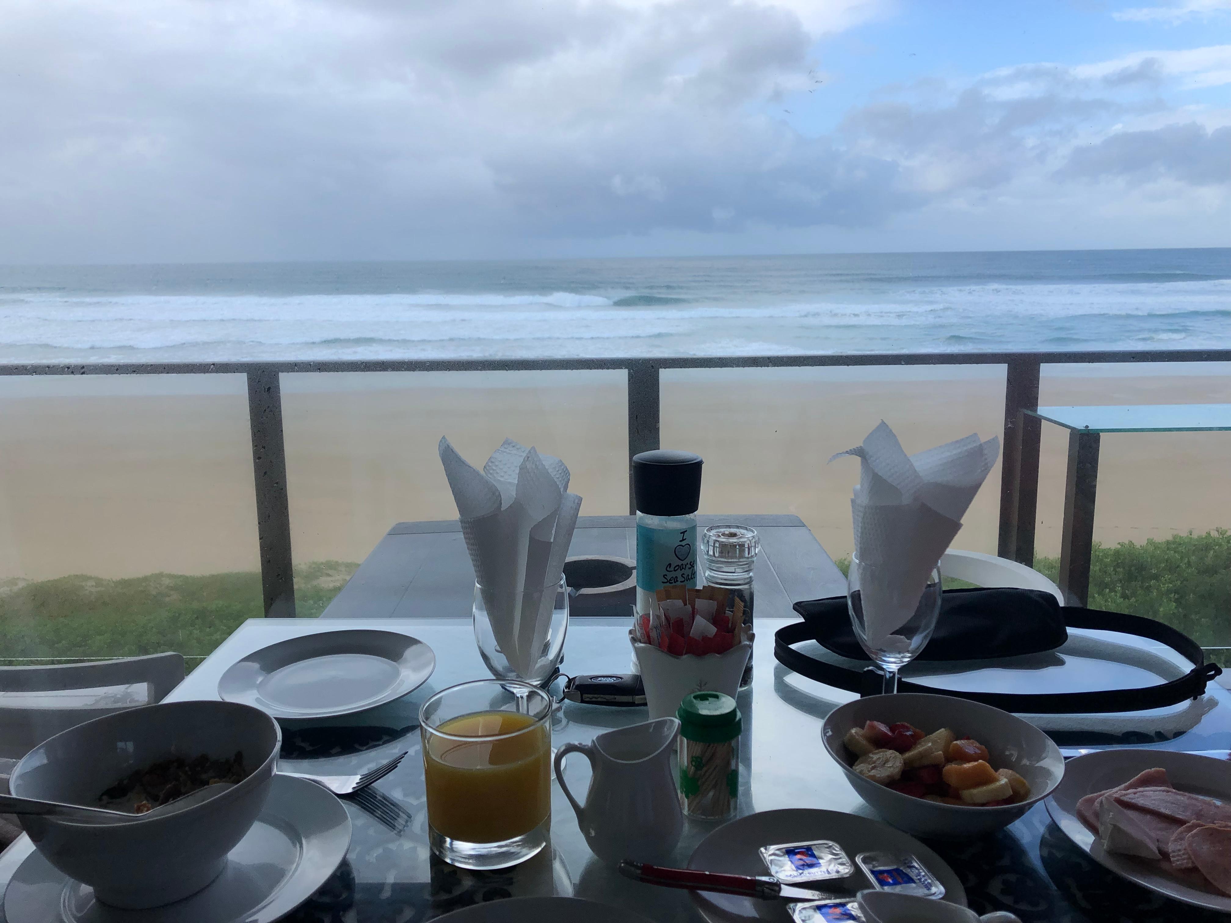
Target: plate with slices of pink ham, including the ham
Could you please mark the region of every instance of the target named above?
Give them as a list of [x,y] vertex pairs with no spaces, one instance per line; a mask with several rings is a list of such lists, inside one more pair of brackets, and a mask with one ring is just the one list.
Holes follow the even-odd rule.
[[1087,753],[1069,761],[1046,806],[1101,865],[1231,913],[1231,762],[1167,749]]

